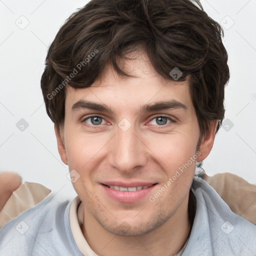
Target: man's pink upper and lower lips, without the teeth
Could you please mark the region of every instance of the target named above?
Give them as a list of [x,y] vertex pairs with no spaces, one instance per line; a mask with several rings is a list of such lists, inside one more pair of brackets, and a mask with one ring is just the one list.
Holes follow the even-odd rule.
[[[107,183],[107,182],[106,182]],[[119,202],[136,202],[139,201],[155,187],[156,183],[145,183],[145,182],[134,182],[134,183],[122,183],[122,182],[109,182],[107,185],[117,185],[117,186],[123,186],[123,187],[134,187],[134,186],[147,186],[151,185],[147,188],[143,188],[136,191],[119,191],[114,188],[107,187],[104,183],[100,184],[103,188],[104,192],[107,196],[110,198],[117,200]]]

